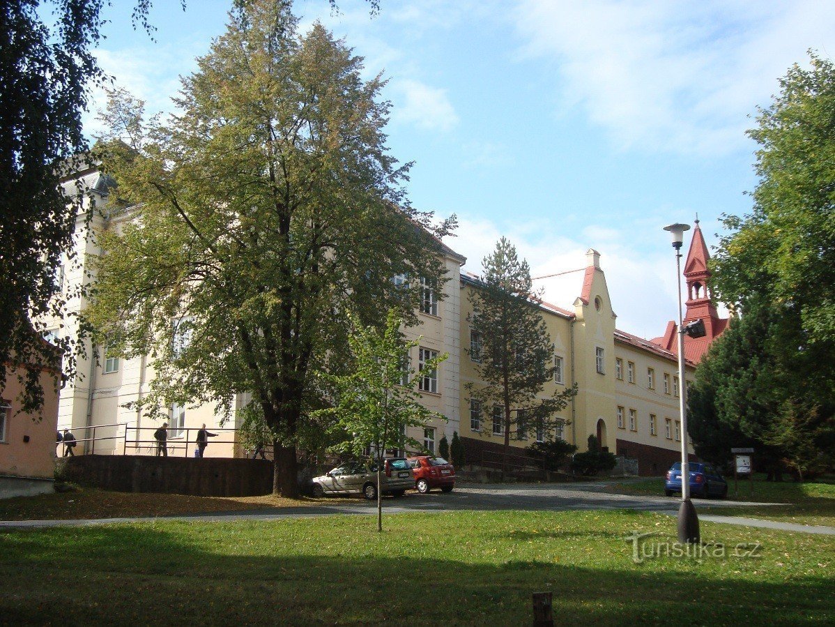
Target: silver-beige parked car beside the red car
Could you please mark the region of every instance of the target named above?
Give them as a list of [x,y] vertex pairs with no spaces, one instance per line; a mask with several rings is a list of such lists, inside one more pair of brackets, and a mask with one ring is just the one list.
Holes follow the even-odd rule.
[[[402,497],[415,485],[412,466],[405,457],[384,461],[382,493]],[[321,477],[313,477],[313,496],[326,494],[362,494],[369,501],[377,498],[377,465],[367,461],[349,461]]]

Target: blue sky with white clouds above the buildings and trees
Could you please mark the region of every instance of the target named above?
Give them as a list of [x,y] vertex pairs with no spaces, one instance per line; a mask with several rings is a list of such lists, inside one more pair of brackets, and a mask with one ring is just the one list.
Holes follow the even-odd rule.
[[[170,110],[178,76],[222,33],[230,0],[157,0],[156,43],[109,9],[104,69],[149,110]],[[670,222],[698,213],[709,245],[721,213],[756,185],[745,130],[808,48],[835,51],[835,3],[590,0],[297,0],[382,71],[389,145],[415,161],[415,206],[458,215],[448,243],[478,272],[505,235],[533,274],[601,253],[620,329],[660,335],[676,315]],[[101,94],[97,94],[98,102]],[[95,105],[94,105],[95,107]],[[94,115],[88,130],[94,132]],[[582,274],[540,282],[564,308]]]

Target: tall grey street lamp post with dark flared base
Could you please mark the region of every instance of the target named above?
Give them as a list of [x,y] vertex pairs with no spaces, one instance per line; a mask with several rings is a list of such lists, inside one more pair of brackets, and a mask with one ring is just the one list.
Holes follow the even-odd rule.
[[[671,224],[664,227],[672,237],[673,248],[676,249],[676,278],[679,297],[678,316],[678,362],[679,362],[679,412],[681,413],[681,507],[678,514],[678,538],[680,543],[699,543],[699,517],[696,515],[696,507],[690,500],[690,464],[687,451],[687,380],[684,370],[684,336],[688,328],[684,326],[681,312],[681,244],[684,242],[684,232],[690,230],[689,224]],[[704,326],[701,320],[701,329],[694,326],[693,335],[704,335]]]

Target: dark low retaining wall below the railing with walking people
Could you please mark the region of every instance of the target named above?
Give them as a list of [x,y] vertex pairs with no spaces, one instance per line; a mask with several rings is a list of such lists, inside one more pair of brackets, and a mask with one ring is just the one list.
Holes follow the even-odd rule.
[[117,492],[255,497],[272,492],[271,461],[222,457],[84,455],[58,461],[65,481]]

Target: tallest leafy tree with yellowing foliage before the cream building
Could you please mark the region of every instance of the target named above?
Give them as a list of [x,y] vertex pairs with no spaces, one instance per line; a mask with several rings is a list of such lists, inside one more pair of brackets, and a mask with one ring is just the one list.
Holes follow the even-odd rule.
[[235,9],[197,63],[170,122],[143,122],[124,97],[105,115],[127,215],[99,235],[90,319],[114,352],[150,354],[147,410],[213,401],[229,415],[249,393],[275,438],[274,489],[295,496],[299,435],[321,406],[311,373],[342,369],[348,311],[415,321],[417,289],[392,277],[443,286],[433,236],[452,221],[407,202],[382,79],[363,80],[321,24],[298,33],[289,3]]

